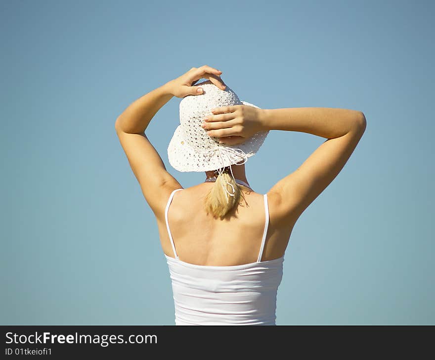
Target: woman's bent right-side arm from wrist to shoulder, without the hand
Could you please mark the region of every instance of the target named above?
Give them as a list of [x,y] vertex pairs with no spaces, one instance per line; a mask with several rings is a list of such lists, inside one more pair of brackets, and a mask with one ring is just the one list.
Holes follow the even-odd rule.
[[[366,129],[361,111],[340,108],[265,109],[269,130],[288,130],[327,138],[293,173],[270,190],[276,199],[277,221],[294,223],[345,166]],[[286,157],[279,159],[281,166]]]

